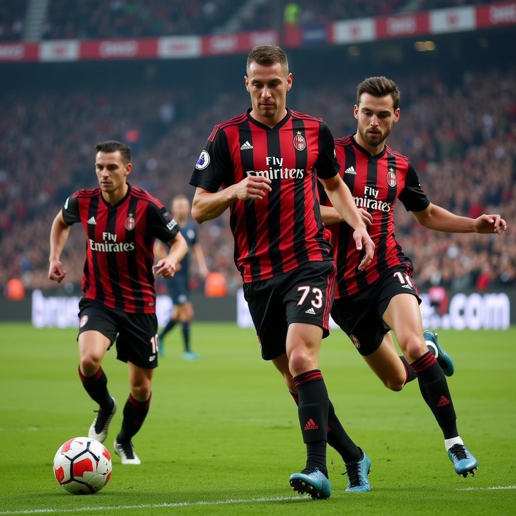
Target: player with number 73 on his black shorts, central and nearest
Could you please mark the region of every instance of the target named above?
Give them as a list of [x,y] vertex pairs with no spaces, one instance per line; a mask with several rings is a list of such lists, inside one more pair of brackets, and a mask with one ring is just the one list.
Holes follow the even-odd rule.
[[284,52],[274,45],[255,47],[245,86],[252,107],[215,126],[193,171],[192,216],[203,222],[230,208],[235,263],[262,357],[279,369],[299,404],[308,458],[291,485],[327,498],[327,441],[346,462],[368,459],[338,422],[318,366],[321,338],[329,333],[335,262],[320,217],[316,176],[354,228],[357,248],[365,247],[361,269],[372,260],[374,246],[338,176],[328,127],[286,108],[292,74]]

